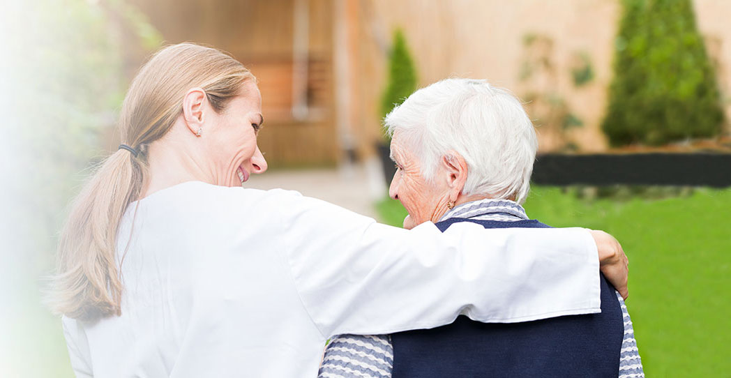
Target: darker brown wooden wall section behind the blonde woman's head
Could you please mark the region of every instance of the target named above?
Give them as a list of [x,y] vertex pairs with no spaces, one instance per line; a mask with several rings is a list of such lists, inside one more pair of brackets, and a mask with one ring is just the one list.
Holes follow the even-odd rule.
[[[270,167],[335,165],[332,4],[308,7],[308,115],[292,115],[295,1],[131,0],[166,44],[200,42],[231,53],[257,77],[265,126],[259,145]],[[134,60],[134,59],[133,59]],[[133,66],[138,67],[135,61]]]

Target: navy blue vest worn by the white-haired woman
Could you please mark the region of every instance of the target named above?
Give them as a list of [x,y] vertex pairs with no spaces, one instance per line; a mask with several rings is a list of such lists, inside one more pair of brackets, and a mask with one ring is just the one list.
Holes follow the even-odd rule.
[[[549,227],[452,218],[485,228]],[[486,324],[460,316],[450,325],[391,335],[393,378],[404,377],[617,377],[624,320],[614,288],[600,275],[600,314],[533,322]]]

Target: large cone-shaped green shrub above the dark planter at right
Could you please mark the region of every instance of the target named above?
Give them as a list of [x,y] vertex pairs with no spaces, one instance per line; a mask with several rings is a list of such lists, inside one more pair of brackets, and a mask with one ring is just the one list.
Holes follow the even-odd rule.
[[690,0],[623,0],[602,129],[611,145],[719,135],[716,75]]

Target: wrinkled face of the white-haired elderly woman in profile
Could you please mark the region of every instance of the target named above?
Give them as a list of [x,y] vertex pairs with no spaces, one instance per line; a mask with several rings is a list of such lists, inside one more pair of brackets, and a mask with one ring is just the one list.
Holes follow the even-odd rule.
[[436,180],[428,183],[421,174],[419,159],[405,148],[398,132],[391,140],[391,157],[396,164],[396,173],[388,194],[394,200],[401,201],[409,216],[404,219],[404,228],[422,224],[423,222],[439,222],[447,212],[449,202],[447,181],[440,180],[442,175],[436,174]]

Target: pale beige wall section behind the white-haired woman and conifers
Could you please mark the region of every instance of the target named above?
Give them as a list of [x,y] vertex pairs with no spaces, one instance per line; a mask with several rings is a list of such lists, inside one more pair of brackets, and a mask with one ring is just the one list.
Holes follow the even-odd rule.
[[[731,121],[731,1],[694,0],[697,26],[709,55],[716,62],[724,107]],[[401,28],[417,66],[420,86],[450,76],[484,78],[508,88],[518,97],[534,85],[550,87],[583,121],[559,137],[538,124],[542,151],[556,151],[568,137],[580,151],[599,152],[607,142],[599,124],[607,107],[607,88],[613,77],[613,44],[621,15],[618,0],[363,0],[359,1],[360,69],[358,91],[363,98],[364,122],[377,125],[379,96],[385,86],[387,49],[392,33]],[[534,34],[553,41],[550,53],[556,72],[549,83],[520,80],[526,58],[523,40]],[[570,69],[577,54],[586,53],[594,80],[577,87]],[[531,118],[537,118],[531,114]],[[731,134],[731,122],[724,125]],[[372,134],[379,134],[373,126]]]

